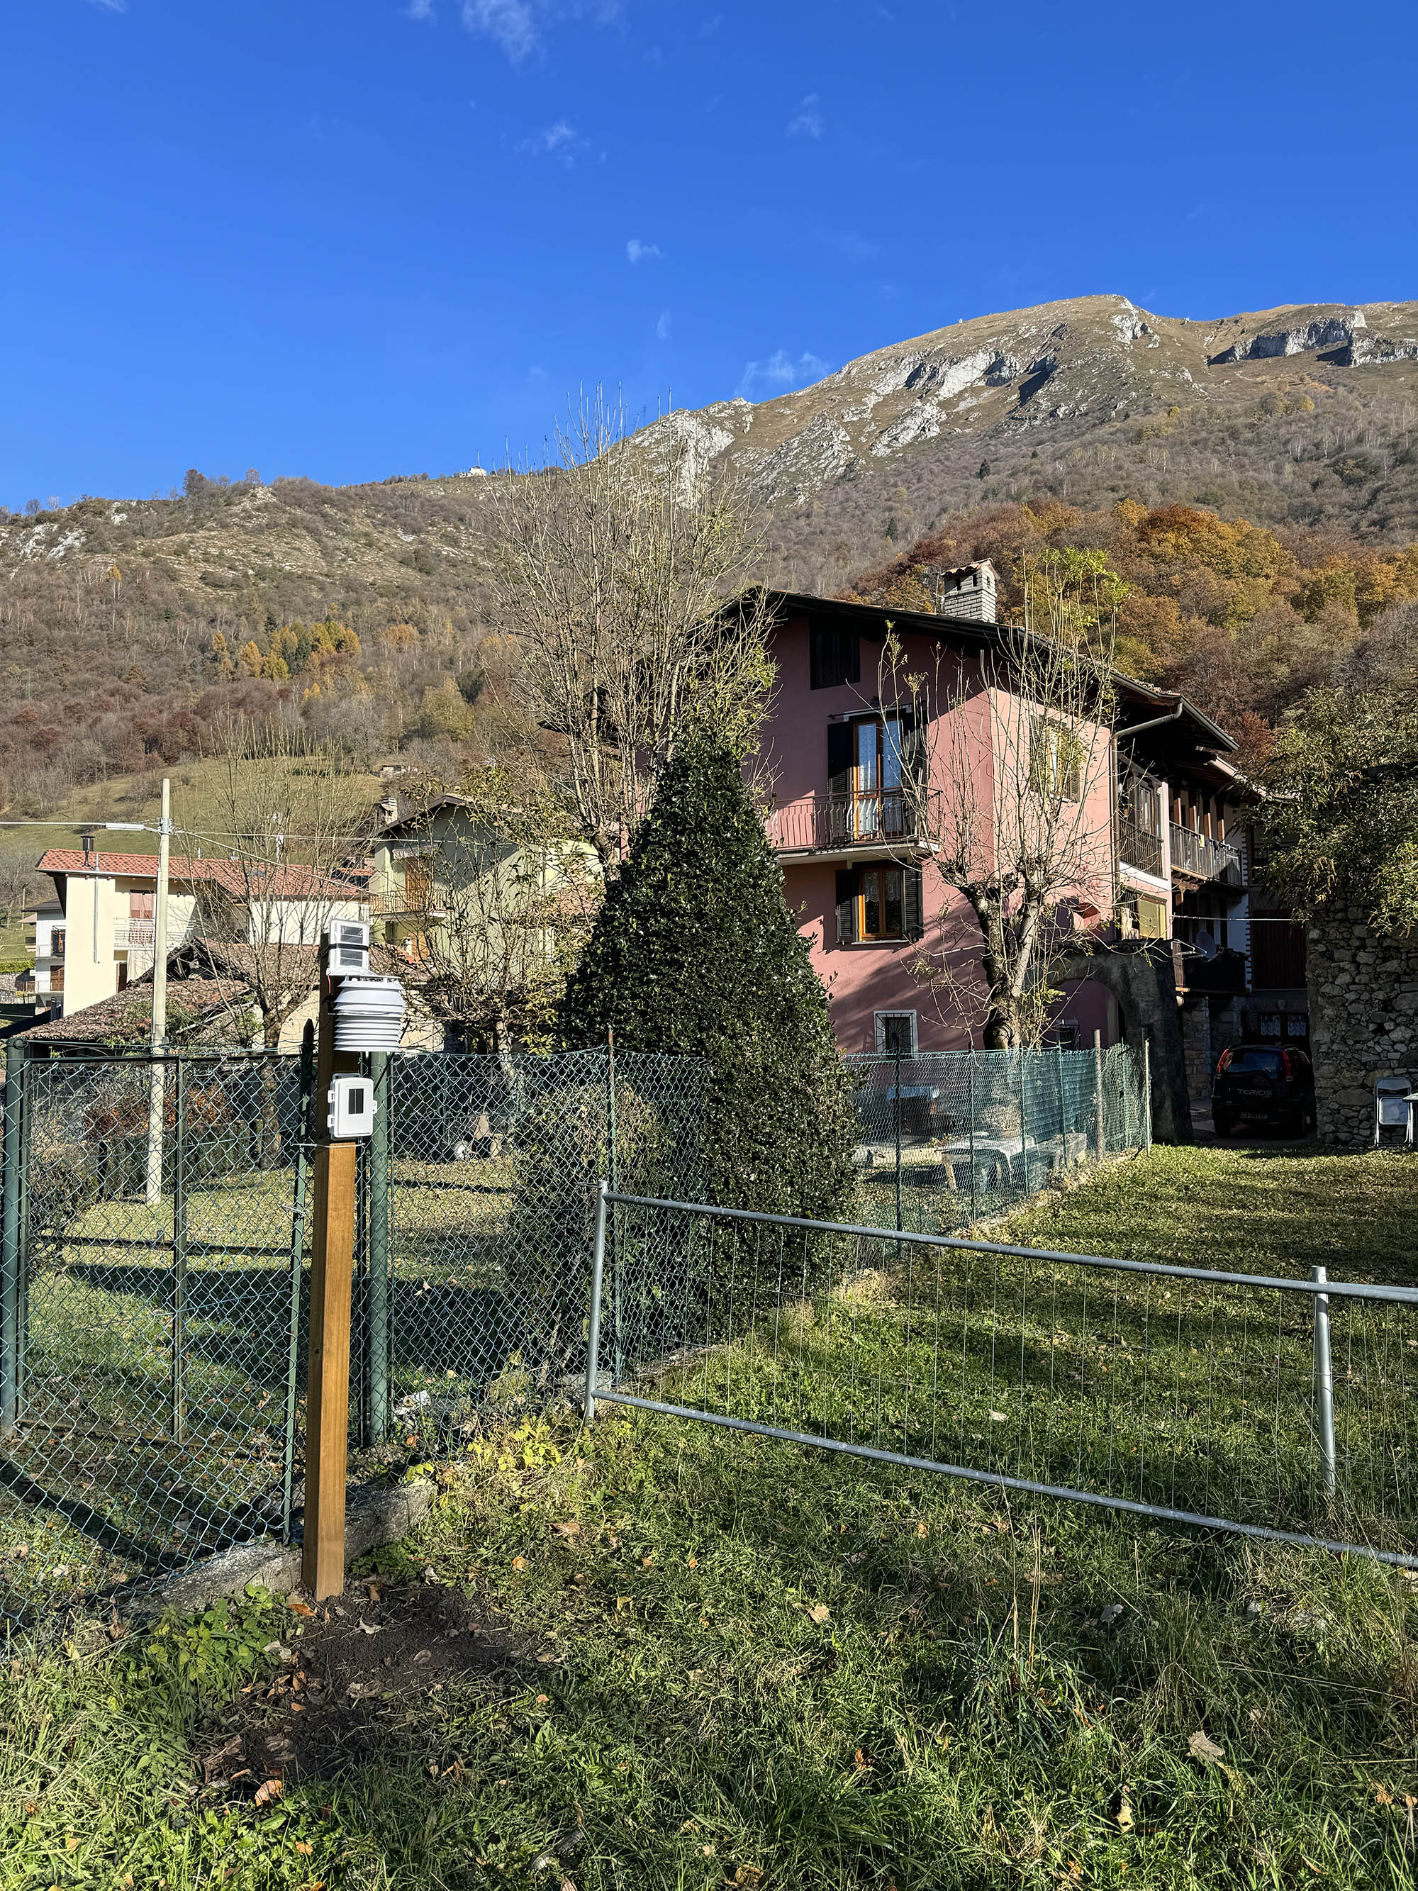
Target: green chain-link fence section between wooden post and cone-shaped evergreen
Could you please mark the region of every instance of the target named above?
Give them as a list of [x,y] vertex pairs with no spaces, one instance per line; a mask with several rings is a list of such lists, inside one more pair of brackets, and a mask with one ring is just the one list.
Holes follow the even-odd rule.
[[391,1061],[388,1422],[448,1443],[580,1380],[597,1178],[698,1195],[707,1080],[635,1051]]

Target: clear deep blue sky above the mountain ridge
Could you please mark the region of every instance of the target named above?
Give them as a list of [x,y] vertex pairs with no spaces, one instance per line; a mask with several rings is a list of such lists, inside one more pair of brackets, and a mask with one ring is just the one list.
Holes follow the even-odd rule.
[[1418,9],[4,8],[0,501],[537,454],[962,316],[1418,297]]

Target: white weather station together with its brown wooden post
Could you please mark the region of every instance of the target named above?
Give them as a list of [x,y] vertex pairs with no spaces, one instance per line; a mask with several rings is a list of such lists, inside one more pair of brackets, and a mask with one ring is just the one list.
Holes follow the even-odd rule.
[[350,1431],[350,1312],[359,1142],[378,1101],[365,1057],[399,1048],[405,995],[369,972],[369,927],[335,921],[320,951],[316,1193],[310,1229],[301,1581],[323,1602],[344,1588],[344,1471]]

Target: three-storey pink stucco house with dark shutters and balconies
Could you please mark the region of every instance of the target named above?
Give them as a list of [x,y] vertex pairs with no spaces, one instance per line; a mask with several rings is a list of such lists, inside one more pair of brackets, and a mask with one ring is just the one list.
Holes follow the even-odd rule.
[[[758,756],[773,781],[770,841],[845,1051],[981,1042],[983,1002],[972,1015],[970,995],[974,983],[983,1000],[979,930],[934,868],[930,840],[942,832],[940,806],[962,800],[949,792],[962,766],[987,821],[1010,802],[1008,770],[1040,766],[1049,741],[1030,705],[998,686],[993,569],[938,577],[936,615],[770,596],[777,685]],[[883,671],[891,630],[894,673]],[[926,686],[913,696],[906,673]],[[1085,845],[1061,902],[1064,925],[1117,936],[1123,913],[1127,930],[1174,942],[1184,997],[1195,964],[1208,1004],[1236,998],[1250,987],[1250,928],[1246,796],[1227,760],[1235,743],[1172,692],[1131,679],[1117,679],[1117,692],[1114,728],[1089,730],[1083,747],[1076,819]],[[921,978],[923,961],[942,953],[957,966],[949,995]],[[1117,1004],[1097,983],[1064,987],[1053,1036],[1087,1044],[1095,1031],[1115,1042]]]

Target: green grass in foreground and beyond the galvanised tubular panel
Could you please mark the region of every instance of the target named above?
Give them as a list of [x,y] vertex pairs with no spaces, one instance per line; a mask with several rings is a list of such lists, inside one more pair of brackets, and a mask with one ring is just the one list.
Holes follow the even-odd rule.
[[[1416,1188],[1393,1157],[1159,1150],[1012,1235],[1403,1278]],[[340,1619],[251,1604],[17,1653],[0,1885],[1414,1883],[1418,1583],[1397,1571],[613,1407],[441,1475],[429,1524],[374,1558],[382,1594]],[[435,1605],[482,1657],[401,1639]],[[327,1679],[297,1715],[280,1643],[318,1681],[338,1636],[372,1700]],[[204,1779],[233,1732],[295,1740],[280,1798],[253,1800],[280,1761]]]

